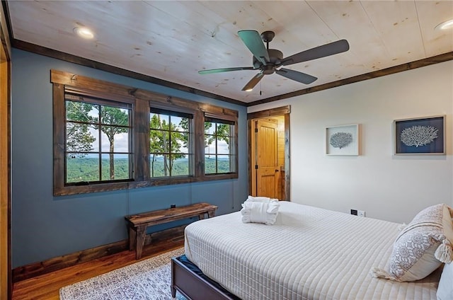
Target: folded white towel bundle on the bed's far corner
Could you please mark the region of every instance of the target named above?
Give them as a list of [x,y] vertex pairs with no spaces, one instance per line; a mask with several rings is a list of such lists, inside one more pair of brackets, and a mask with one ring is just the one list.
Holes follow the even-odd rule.
[[243,223],[263,223],[273,225],[277,219],[280,203],[277,200],[269,202],[246,201],[242,204],[241,214]]

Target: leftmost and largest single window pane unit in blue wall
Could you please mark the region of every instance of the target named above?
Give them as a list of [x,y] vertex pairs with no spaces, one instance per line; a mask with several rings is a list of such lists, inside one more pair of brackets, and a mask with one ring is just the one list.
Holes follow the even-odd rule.
[[66,185],[132,179],[132,105],[65,95]]

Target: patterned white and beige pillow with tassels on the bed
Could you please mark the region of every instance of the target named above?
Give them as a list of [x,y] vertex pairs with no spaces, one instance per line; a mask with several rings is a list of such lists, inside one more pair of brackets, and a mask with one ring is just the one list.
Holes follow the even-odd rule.
[[437,204],[419,212],[398,234],[388,270],[373,268],[372,276],[398,282],[422,279],[453,259],[453,210]]

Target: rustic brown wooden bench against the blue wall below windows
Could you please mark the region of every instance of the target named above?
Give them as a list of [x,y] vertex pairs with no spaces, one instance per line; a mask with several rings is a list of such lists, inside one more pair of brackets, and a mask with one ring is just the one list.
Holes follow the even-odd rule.
[[205,219],[206,214],[212,218],[215,217],[216,209],[217,206],[212,204],[196,203],[183,207],[154,210],[126,216],[125,219],[129,227],[129,250],[135,249],[135,258],[139,260],[142,257],[147,227],[197,216],[198,219]]

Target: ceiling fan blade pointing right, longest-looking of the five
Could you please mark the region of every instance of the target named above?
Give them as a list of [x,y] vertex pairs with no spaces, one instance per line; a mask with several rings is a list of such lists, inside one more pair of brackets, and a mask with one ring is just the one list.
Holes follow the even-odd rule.
[[305,50],[289,57],[282,59],[280,66],[287,66],[289,64],[297,64],[298,62],[307,62],[311,59],[318,59],[327,57],[329,55],[338,54],[349,50],[349,43],[347,40],[338,40],[326,45],[314,47]]

